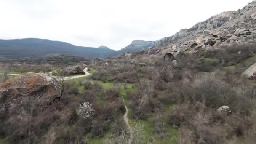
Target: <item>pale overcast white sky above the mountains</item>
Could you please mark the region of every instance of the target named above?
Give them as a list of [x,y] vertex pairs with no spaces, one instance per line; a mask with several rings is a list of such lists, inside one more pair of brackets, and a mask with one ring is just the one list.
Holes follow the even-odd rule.
[[0,0],[0,39],[35,37],[119,50],[253,0]]

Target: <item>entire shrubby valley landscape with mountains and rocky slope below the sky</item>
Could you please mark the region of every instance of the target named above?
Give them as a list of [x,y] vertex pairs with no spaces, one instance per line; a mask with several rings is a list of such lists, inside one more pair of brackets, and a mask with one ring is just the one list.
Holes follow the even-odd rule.
[[256,141],[256,1],[119,51],[28,38],[0,56],[1,144]]

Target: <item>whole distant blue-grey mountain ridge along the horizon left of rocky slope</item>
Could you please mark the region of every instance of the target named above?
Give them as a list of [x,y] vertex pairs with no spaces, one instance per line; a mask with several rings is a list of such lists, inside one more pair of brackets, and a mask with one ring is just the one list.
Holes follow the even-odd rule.
[[83,47],[66,42],[39,38],[0,40],[0,57],[8,59],[26,59],[55,56],[57,54],[71,54],[89,59],[96,57],[106,58],[108,56],[117,56],[122,53],[149,48],[152,46],[152,43],[154,42],[135,40],[131,45],[128,45],[120,51],[115,51],[107,46],[99,46],[98,48]]

